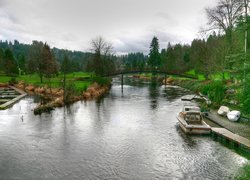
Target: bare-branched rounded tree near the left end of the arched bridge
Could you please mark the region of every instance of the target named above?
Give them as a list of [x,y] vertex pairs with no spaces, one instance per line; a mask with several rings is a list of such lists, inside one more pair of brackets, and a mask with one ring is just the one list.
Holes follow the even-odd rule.
[[111,72],[114,68],[112,59],[111,43],[108,43],[103,37],[97,37],[91,41],[91,49],[94,52],[89,68],[95,72],[96,75],[104,75]]

